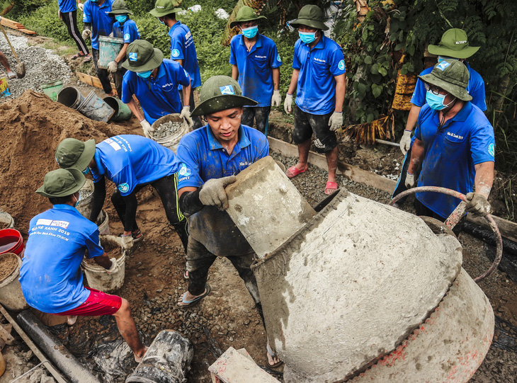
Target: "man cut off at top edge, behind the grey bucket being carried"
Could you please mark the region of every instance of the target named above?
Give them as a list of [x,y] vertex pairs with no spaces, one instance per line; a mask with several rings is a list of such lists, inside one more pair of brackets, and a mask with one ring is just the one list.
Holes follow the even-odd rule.
[[93,53],[93,65],[97,72],[98,79],[101,81],[102,88],[108,96],[115,96],[111,88],[110,75],[108,69],[98,67],[98,37],[108,36],[113,30],[115,19],[109,16],[113,0],[88,0],[84,3],[83,23],[84,29],[82,37],[84,40],[91,37],[91,52]]

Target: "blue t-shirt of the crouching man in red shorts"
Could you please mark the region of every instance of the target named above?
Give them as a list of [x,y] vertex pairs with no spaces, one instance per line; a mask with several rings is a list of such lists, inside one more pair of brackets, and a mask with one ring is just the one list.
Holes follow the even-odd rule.
[[30,219],[29,239],[20,269],[27,303],[56,314],[81,306],[90,292],[83,285],[81,261],[102,256],[98,227],[75,207],[54,205]]

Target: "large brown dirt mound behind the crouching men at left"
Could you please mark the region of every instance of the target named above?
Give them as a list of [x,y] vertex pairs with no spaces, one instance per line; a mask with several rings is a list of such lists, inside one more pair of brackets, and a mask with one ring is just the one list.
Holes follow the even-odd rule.
[[30,219],[51,206],[34,192],[45,173],[58,167],[57,144],[68,137],[100,142],[124,133],[120,125],[90,120],[35,91],[0,105],[0,210],[26,236]]

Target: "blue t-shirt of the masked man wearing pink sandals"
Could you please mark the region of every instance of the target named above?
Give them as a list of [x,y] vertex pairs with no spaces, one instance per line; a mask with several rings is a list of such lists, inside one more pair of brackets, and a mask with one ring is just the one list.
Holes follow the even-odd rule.
[[305,113],[326,115],[336,108],[336,79],[346,72],[345,57],[341,47],[322,36],[316,46],[298,39],[292,68],[299,69],[296,105]]

